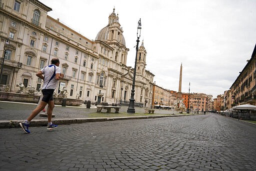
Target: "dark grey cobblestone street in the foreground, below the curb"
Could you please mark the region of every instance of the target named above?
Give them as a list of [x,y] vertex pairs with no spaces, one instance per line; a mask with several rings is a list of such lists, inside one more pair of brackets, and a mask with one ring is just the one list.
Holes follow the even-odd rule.
[[0,129],[0,170],[255,170],[256,126],[218,114]]

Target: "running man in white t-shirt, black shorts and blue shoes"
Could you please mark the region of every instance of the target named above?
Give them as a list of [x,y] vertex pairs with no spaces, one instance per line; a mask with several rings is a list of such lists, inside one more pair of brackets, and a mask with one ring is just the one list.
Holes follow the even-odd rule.
[[[47,109],[47,117],[48,117],[48,125],[47,129],[53,129],[56,128],[58,125],[53,124],[51,122],[51,115],[52,115],[52,110],[54,108],[54,102],[53,102],[53,92],[54,89],[57,87],[57,80],[61,79],[64,77],[62,73],[60,73],[60,67],[59,66],[59,59],[54,57],[51,59],[51,64],[48,66],[45,66],[41,70],[39,70],[35,75],[38,76],[39,78],[43,79],[43,85],[42,85],[42,100],[40,104],[30,113],[28,118],[20,122],[19,125],[21,128],[26,132],[30,133],[28,130],[28,126],[30,121],[42,110],[44,109],[45,105],[48,104],[48,109]],[[44,76],[43,76],[44,75]]]

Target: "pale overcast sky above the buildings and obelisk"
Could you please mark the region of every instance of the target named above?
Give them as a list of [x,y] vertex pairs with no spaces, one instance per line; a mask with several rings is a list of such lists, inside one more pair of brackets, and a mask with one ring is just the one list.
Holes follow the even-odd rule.
[[256,43],[256,0],[39,0],[48,15],[89,39],[108,24],[115,8],[134,67],[137,22],[146,48],[146,70],[158,86],[202,92],[228,90]]

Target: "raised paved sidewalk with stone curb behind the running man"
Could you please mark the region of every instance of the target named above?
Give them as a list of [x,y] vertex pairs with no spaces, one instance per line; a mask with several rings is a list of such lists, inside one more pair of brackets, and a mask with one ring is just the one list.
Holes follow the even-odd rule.
[[[18,123],[28,117],[30,112],[36,107],[33,103],[20,103],[0,101],[0,128],[19,127]],[[60,106],[55,105],[52,118],[55,124],[71,124],[91,121],[106,121],[117,119],[141,119],[155,117],[170,117],[184,116],[194,114],[179,114],[174,110],[155,109],[154,114],[144,113],[144,108],[135,107],[135,113],[127,113],[128,106],[121,106],[119,113],[106,113],[103,110],[101,113],[96,112],[96,107],[86,108],[86,105],[81,106]],[[174,114],[173,114],[174,113]],[[31,121],[31,126],[46,126],[47,117],[41,117],[39,114]]]

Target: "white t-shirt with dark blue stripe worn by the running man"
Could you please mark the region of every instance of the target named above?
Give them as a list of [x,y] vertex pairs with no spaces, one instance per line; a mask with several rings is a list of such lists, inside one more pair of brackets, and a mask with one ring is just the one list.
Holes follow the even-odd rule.
[[[55,70],[55,72],[54,72]],[[60,67],[50,64],[41,69],[44,74],[42,89],[55,89],[57,87],[56,73],[60,73]]]

